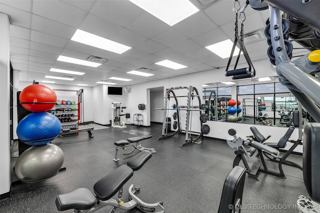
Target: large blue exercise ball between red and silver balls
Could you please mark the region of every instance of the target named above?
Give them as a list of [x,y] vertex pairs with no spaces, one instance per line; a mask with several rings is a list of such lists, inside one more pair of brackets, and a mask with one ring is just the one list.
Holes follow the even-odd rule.
[[17,125],[16,134],[25,144],[40,146],[51,142],[61,131],[57,117],[47,112],[31,113]]

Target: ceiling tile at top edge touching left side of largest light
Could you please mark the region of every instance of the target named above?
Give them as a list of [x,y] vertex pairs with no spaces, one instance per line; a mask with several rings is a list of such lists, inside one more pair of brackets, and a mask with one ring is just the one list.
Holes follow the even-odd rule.
[[135,4],[124,0],[98,0],[90,12],[120,26],[128,25],[143,13]]

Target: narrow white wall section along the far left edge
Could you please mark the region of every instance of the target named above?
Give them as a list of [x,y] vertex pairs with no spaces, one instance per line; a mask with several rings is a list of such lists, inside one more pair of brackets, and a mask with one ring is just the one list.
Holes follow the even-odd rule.
[[0,13],[0,195],[10,191],[9,19]]

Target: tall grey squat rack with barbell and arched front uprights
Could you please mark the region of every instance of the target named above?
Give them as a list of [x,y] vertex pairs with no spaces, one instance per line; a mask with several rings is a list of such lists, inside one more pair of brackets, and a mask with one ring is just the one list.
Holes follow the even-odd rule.
[[[185,96],[176,96],[173,90],[179,90],[179,89],[186,89],[187,90],[187,95]],[[193,94],[195,92],[195,94]],[[170,96],[174,98],[175,100],[175,104],[172,105],[173,108],[169,108],[169,101],[170,101]],[[179,97],[186,97],[187,98],[187,105],[186,106],[179,106],[178,105],[178,100],[177,98]],[[191,100],[193,102],[193,98],[197,97],[198,100],[198,104],[197,106],[193,106],[191,103]],[[199,116],[201,116],[202,111],[205,110],[202,109],[202,105],[201,105],[201,99],[199,96],[199,93],[197,91],[197,89],[193,86],[184,86],[184,87],[171,87],[169,89],[165,90],[165,96],[164,96],[164,105],[163,108],[155,108],[155,110],[163,110],[163,122],[162,122],[162,134],[161,137],[158,140],[165,140],[167,138],[170,138],[172,136],[174,136],[176,133],[178,134],[184,134],[181,130],[181,122],[180,122],[180,111],[184,110],[186,111],[186,120],[185,120],[185,141],[182,143],[182,145],[180,147],[186,146],[188,144],[191,143],[195,143],[195,144],[200,144],[201,141],[198,141],[200,138],[203,138],[203,133],[201,131],[201,133],[195,138],[192,139],[191,137],[191,115],[192,115],[192,111],[199,111]],[[172,133],[172,134],[168,134],[167,131],[167,120],[168,120],[168,111],[169,110],[174,110],[177,113],[177,130]],[[190,115],[191,112],[191,115]],[[200,128],[202,127],[202,121],[200,120]],[[206,133],[207,134],[207,133]]]

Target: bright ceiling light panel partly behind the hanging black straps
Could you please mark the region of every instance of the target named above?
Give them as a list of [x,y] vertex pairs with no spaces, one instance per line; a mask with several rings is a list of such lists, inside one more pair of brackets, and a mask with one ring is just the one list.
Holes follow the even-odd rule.
[[[228,58],[230,56],[232,46],[233,46],[233,42],[230,39],[227,39],[227,40],[206,46],[205,48],[207,48],[214,54],[220,56],[221,58]],[[238,53],[239,53],[239,48],[235,46],[233,56],[238,55]],[[243,54],[242,51],[241,51],[241,54]]]

